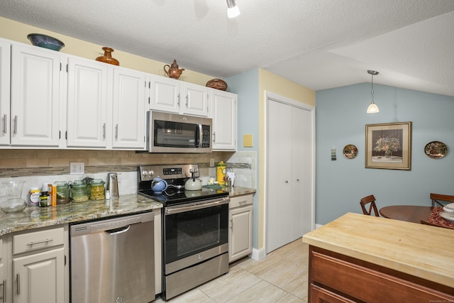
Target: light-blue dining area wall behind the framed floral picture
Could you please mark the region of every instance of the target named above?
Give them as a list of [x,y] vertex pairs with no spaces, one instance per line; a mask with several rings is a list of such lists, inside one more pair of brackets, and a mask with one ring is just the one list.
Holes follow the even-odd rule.
[[[454,195],[454,97],[375,84],[380,113],[366,114],[370,89],[362,83],[316,92],[316,224],[362,214],[360,199],[369,194],[378,208],[430,205],[431,192]],[[365,125],[407,121],[413,123],[411,170],[365,168]],[[428,158],[424,146],[431,141],[448,145],[448,155]],[[347,144],[356,145],[357,158],[343,156]]]

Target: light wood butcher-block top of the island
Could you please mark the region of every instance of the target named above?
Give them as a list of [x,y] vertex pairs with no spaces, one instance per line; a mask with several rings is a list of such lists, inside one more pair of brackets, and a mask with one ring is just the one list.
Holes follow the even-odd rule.
[[453,238],[448,228],[348,213],[303,242],[454,287]]

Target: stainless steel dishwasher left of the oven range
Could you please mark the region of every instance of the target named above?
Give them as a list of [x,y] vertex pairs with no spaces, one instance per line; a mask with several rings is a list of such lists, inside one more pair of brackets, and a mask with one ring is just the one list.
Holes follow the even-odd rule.
[[72,303],[155,299],[153,212],[70,225]]

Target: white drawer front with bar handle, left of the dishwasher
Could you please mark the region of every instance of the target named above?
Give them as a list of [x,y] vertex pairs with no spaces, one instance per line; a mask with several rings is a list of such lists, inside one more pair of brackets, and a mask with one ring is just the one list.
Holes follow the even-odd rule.
[[63,227],[13,235],[13,255],[63,245],[64,235]]

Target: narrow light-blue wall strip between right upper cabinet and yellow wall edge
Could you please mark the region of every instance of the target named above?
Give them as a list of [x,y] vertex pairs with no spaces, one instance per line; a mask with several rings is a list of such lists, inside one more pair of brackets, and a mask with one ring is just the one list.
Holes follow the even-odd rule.
[[[228,83],[228,91],[238,94],[237,112],[237,150],[255,151],[256,159],[259,158],[259,93],[258,93],[258,69],[243,72],[242,74],[225,79]],[[243,147],[243,135],[253,134],[253,148]],[[257,176],[260,167],[256,164]],[[253,247],[258,248],[258,193],[254,194],[253,201]]]

